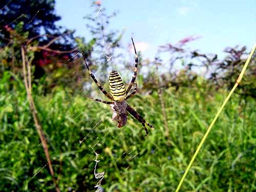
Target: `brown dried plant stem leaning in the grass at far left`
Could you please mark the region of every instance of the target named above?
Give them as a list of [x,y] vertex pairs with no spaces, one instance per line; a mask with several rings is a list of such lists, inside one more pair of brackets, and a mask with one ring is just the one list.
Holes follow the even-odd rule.
[[54,177],[54,171],[53,171],[53,168],[52,168],[52,163],[51,163],[51,159],[50,159],[50,155],[49,155],[49,151],[48,151],[47,140],[45,138],[44,132],[42,131],[41,124],[40,124],[39,119],[37,117],[37,110],[36,110],[34,100],[33,100],[33,97],[32,97],[31,67],[30,67],[30,63],[28,62],[28,59],[25,56],[24,46],[22,46],[22,66],[23,66],[24,84],[25,84],[25,88],[26,88],[26,92],[27,92],[27,96],[28,96],[28,100],[29,100],[30,110],[31,110],[31,113],[32,113],[32,116],[33,116],[33,119],[34,119],[36,131],[37,131],[37,133],[40,137],[42,147],[44,148],[44,152],[45,152],[46,159],[47,159],[47,162],[48,162],[48,166],[49,166],[49,169],[50,169],[50,173],[51,173],[51,176],[52,176],[52,179],[53,179],[53,183],[55,185],[55,189],[56,189],[57,192],[60,192],[57,181]]

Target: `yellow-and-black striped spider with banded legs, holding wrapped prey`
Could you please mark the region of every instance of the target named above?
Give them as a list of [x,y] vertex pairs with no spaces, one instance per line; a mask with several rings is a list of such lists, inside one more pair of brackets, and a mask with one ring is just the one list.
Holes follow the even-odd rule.
[[[82,54],[83,55],[83,60],[86,64],[86,67],[87,67],[87,69],[90,73],[91,78],[97,84],[99,90],[106,97],[111,99],[112,101],[103,101],[103,100],[100,100],[100,99],[90,97],[88,95],[84,95],[84,96],[86,96],[87,98],[93,99],[95,101],[102,102],[102,103],[110,105],[111,110],[113,112],[112,119],[117,122],[117,127],[122,127],[126,124],[127,115],[128,115],[128,113],[130,113],[133,117],[135,117],[142,124],[142,126],[144,127],[144,130],[146,132],[146,135],[147,135],[148,130],[147,130],[145,125],[147,125],[148,127],[151,127],[151,128],[153,128],[154,126],[151,125],[150,123],[147,123],[145,121],[145,119],[143,117],[141,117],[140,114],[138,114],[126,102],[126,100],[133,97],[136,94],[136,91],[137,91],[137,83],[136,83],[135,80],[136,80],[136,77],[137,77],[137,69],[138,69],[138,55],[137,55],[137,52],[136,52],[136,49],[135,49],[133,38],[132,38],[132,42],[133,42],[133,47],[134,47],[134,51],[135,51],[135,67],[134,67],[134,75],[132,77],[131,83],[130,83],[129,87],[127,89],[125,89],[122,78],[120,77],[120,75],[118,74],[117,71],[113,70],[110,73],[110,76],[109,76],[110,94],[108,92],[106,92],[104,90],[104,88],[101,86],[101,84],[97,81],[97,79],[95,78],[95,76],[93,75],[92,71],[89,68],[86,57],[84,56],[84,54]],[[134,91],[131,94],[129,94],[129,91],[133,87],[133,84],[135,84]]]

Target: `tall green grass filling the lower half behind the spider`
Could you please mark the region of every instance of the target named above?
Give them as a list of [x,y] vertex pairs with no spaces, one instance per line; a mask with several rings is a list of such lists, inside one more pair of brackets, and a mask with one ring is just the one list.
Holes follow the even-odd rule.
[[[165,90],[169,136],[164,135],[157,93],[135,96],[129,103],[155,125],[143,138],[141,124],[131,116],[118,129],[108,105],[72,95],[67,88],[48,95],[40,90],[35,87],[33,96],[61,191],[95,190],[92,147],[100,160],[96,172],[105,172],[105,191],[174,191],[228,94],[202,87]],[[255,108],[255,100],[232,96],[181,191],[256,190]],[[54,191],[23,82],[8,72],[0,80],[0,123],[1,191]]]

